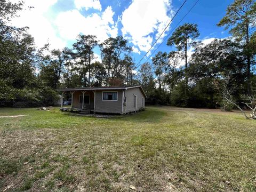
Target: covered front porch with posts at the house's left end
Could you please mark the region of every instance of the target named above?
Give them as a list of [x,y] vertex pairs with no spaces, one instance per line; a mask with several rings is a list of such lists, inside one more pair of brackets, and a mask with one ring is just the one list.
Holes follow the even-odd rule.
[[[65,94],[71,95],[71,106],[63,105]],[[95,91],[61,91],[62,111],[94,112]]]

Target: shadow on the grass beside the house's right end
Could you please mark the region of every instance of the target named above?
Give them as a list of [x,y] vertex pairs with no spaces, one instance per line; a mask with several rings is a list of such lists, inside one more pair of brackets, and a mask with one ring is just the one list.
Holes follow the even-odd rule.
[[167,115],[166,111],[157,108],[146,108],[136,114],[125,115],[120,118],[122,121],[158,123]]

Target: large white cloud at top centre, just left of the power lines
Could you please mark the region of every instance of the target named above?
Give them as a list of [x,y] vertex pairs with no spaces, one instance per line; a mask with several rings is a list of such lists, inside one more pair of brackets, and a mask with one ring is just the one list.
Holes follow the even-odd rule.
[[169,0],[133,0],[122,14],[123,35],[130,36],[140,51],[148,51],[153,39],[159,37],[170,22],[171,15],[167,15],[170,7]]

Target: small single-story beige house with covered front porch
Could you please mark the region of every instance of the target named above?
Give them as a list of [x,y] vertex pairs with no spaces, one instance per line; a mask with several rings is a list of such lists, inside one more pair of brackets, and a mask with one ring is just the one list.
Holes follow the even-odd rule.
[[145,108],[146,94],[141,86],[102,86],[58,89],[71,94],[71,110],[83,113],[126,114]]

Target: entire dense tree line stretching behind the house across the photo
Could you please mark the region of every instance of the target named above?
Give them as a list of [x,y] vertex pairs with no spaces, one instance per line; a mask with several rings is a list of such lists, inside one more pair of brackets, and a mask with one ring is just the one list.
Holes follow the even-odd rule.
[[1,106],[53,105],[58,87],[142,85],[149,104],[209,108],[227,105],[220,91],[225,79],[231,79],[226,87],[235,87],[232,94],[238,102],[255,92],[253,0],[235,0],[218,23],[230,29],[230,38],[204,45],[198,41],[197,25],[185,23],[168,39],[170,52],[158,52],[139,68],[122,36],[99,42],[94,35],[78,35],[70,48],[50,50],[46,44],[38,49],[27,28],[9,25],[22,2],[1,1],[1,7]]

